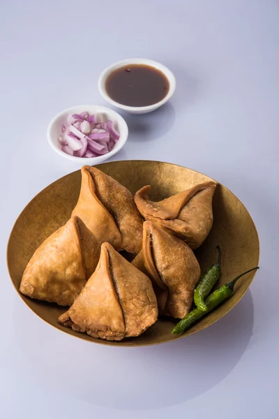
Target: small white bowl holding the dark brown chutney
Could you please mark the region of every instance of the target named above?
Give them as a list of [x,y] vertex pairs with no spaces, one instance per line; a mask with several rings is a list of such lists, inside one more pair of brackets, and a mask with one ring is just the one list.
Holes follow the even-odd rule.
[[[162,99],[162,101],[158,103],[154,103],[153,105],[148,106],[127,106],[122,105],[121,103],[118,103],[116,101],[113,101],[112,98],[107,94],[107,91],[105,89],[105,82],[107,80],[107,77],[112,73],[112,71],[117,70],[117,68],[121,68],[124,66],[129,66],[133,64],[142,64],[144,66],[151,66],[154,68],[157,68],[158,70],[162,71],[162,73],[165,74],[167,80],[169,80],[169,91],[167,93],[167,96]],[[176,80],[174,77],[174,74],[172,71],[169,70],[169,68],[163,66],[163,64],[158,63],[157,61],[153,61],[151,59],[144,59],[144,58],[131,58],[131,59],[123,59],[122,61],[118,61],[117,63],[112,64],[110,67],[105,68],[103,73],[101,73],[100,78],[98,80],[98,88],[100,91],[100,94],[105,98],[106,101],[110,102],[112,105],[116,106],[116,108],[126,110],[127,112],[133,113],[133,114],[143,114],[152,112],[153,110],[156,110],[160,108],[160,106],[164,105],[174,94],[174,90],[176,87]]]

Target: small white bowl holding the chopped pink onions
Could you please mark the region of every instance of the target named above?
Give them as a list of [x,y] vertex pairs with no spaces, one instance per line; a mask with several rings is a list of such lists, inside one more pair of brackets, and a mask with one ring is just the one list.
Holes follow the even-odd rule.
[[[96,122],[107,122],[109,119],[114,122],[114,127],[116,128],[116,131],[119,133],[120,137],[111,152],[103,154],[103,156],[96,156],[91,158],[70,156],[69,154],[62,152],[61,144],[58,140],[59,135],[61,135],[61,124],[67,125],[68,115],[73,115],[75,113],[81,113],[85,111],[89,112],[90,115],[96,115]],[[62,157],[65,157],[65,159],[76,162],[80,161],[82,164],[89,165],[102,163],[102,161],[110,159],[110,157],[121,150],[123,145],[126,143],[127,138],[128,126],[123,117],[121,117],[121,115],[112,109],[98,105],[79,105],[63,110],[58,115],[56,115],[54,119],[52,119],[50,125],[47,128],[47,140],[50,143],[50,146],[54,149],[54,152],[60,154]]]

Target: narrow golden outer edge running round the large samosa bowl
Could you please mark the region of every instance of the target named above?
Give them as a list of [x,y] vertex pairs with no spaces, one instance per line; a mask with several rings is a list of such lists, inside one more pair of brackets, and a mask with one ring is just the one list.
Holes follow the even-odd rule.
[[[191,172],[195,172],[195,173],[197,173],[198,175],[203,175],[203,176],[206,176],[206,177],[209,177],[209,179],[212,179],[214,182],[216,182],[217,184],[220,184],[220,182],[218,182],[216,179],[213,179],[212,177],[210,177],[210,176],[208,176],[208,175],[205,175],[203,172],[199,172],[198,170],[195,170],[195,169],[191,169],[191,168],[188,168],[188,167],[186,167],[186,166],[182,166],[182,165],[179,165],[179,164],[176,164],[176,163],[169,163],[169,162],[167,162],[167,161],[157,161],[157,160],[143,160],[143,159],[127,159],[127,160],[116,160],[116,161],[107,161],[107,162],[105,162],[105,163],[99,163],[99,164],[97,164],[97,165],[94,165],[94,167],[96,167],[96,168],[99,168],[100,170],[101,170],[101,168],[100,168],[100,166],[109,166],[109,165],[113,165],[114,163],[121,163],[121,162],[134,162],[134,161],[137,161],[137,162],[148,162],[148,163],[162,163],[162,164],[167,164],[167,165],[170,165],[170,166],[176,166],[176,167],[179,167],[179,168],[185,168],[185,169],[187,169],[187,170],[190,170]],[[38,193],[36,193],[36,195],[35,196],[33,196],[33,198],[29,201],[29,203],[27,203],[27,205],[25,205],[25,207],[23,208],[23,210],[20,212],[20,214],[17,216],[17,218],[15,219],[15,221],[14,221],[14,223],[13,223],[13,228],[12,228],[12,230],[10,231],[10,235],[9,235],[9,237],[8,237],[8,242],[7,242],[7,247],[6,247],[6,265],[7,265],[7,268],[8,268],[8,274],[9,274],[9,277],[10,277],[10,281],[11,281],[11,283],[13,284],[13,288],[15,288],[15,291],[16,291],[16,293],[17,293],[17,295],[20,295],[20,299],[22,300],[22,302],[24,302],[24,304],[34,313],[34,314],[36,314],[36,316],[38,317],[38,318],[40,318],[40,320],[41,321],[44,321],[45,323],[47,323],[47,325],[50,325],[52,328],[54,328],[54,329],[56,329],[56,330],[59,330],[60,332],[63,332],[63,333],[65,333],[66,335],[68,335],[68,336],[70,336],[70,337],[73,337],[73,338],[75,338],[75,337],[77,337],[78,339],[82,339],[82,341],[87,341],[87,342],[91,342],[91,343],[93,343],[93,344],[100,344],[100,345],[103,345],[103,346],[117,346],[117,347],[123,347],[123,348],[138,348],[138,347],[140,347],[140,346],[156,346],[156,345],[162,345],[162,344],[169,344],[169,343],[171,343],[171,342],[174,342],[174,341],[177,341],[177,340],[179,340],[179,339],[184,339],[184,338],[186,338],[186,337],[188,337],[188,336],[190,336],[190,335],[194,335],[195,333],[197,333],[197,332],[201,332],[202,330],[204,330],[204,329],[206,329],[206,328],[209,328],[209,326],[211,326],[211,325],[213,325],[214,323],[216,323],[217,321],[219,321],[221,318],[223,318],[224,316],[226,316],[226,314],[228,314],[229,313],[229,311],[232,311],[232,309],[234,309],[234,307],[236,307],[236,305],[242,300],[242,298],[243,298],[243,296],[246,294],[246,292],[248,291],[248,289],[250,288],[250,285],[252,284],[252,281],[254,280],[254,278],[255,278],[255,274],[256,274],[256,272],[257,272],[257,270],[255,270],[254,272],[251,272],[251,275],[250,275],[250,281],[248,281],[248,286],[243,290],[243,292],[241,292],[241,295],[239,296],[239,300],[237,300],[234,304],[232,304],[232,307],[230,307],[229,309],[227,309],[227,310],[224,310],[223,311],[223,313],[220,315],[220,317],[218,317],[218,318],[216,318],[215,320],[213,320],[212,321],[212,323],[209,323],[209,324],[206,324],[206,325],[202,325],[202,327],[201,328],[199,328],[198,330],[195,330],[195,328],[190,328],[186,333],[184,333],[183,335],[172,335],[172,340],[169,340],[169,341],[154,341],[153,343],[152,342],[149,342],[149,343],[144,343],[144,344],[142,344],[142,342],[139,342],[139,344],[135,344],[135,342],[132,342],[132,341],[128,341],[128,338],[126,338],[125,339],[125,344],[123,345],[123,344],[121,344],[121,342],[123,342],[123,341],[107,341],[107,340],[105,340],[105,339],[85,339],[84,338],[84,333],[79,333],[79,332],[76,332],[76,334],[75,335],[72,335],[72,334],[70,334],[69,332],[68,332],[68,328],[63,328],[63,329],[60,329],[60,328],[57,328],[55,325],[52,325],[52,323],[49,323],[47,320],[45,320],[45,318],[42,318],[42,317],[40,317],[40,315],[38,314],[38,313],[36,313],[36,311],[34,311],[30,306],[29,306],[29,304],[27,303],[27,301],[25,301],[24,300],[24,297],[23,297],[23,295],[22,295],[22,293],[20,293],[20,291],[19,290],[17,290],[17,288],[16,288],[16,286],[15,286],[15,283],[14,283],[14,281],[13,281],[13,279],[12,279],[12,274],[11,274],[11,272],[10,272],[10,266],[9,266],[9,263],[8,263],[8,251],[9,251],[9,247],[10,247],[10,240],[11,240],[11,237],[12,237],[12,235],[13,235],[13,230],[14,230],[14,228],[15,228],[15,225],[16,225],[16,223],[17,223],[17,221],[20,219],[20,217],[22,216],[22,214],[24,213],[24,211],[27,209],[27,207],[34,201],[34,200],[36,200],[36,198],[40,195],[40,193],[42,193],[43,191],[45,191],[45,189],[47,189],[47,188],[49,188],[50,186],[52,186],[53,184],[55,184],[57,181],[61,181],[62,179],[65,179],[66,177],[70,177],[71,175],[73,175],[73,173],[75,173],[75,172],[80,172],[80,169],[78,169],[78,170],[74,170],[73,172],[70,172],[70,173],[68,173],[67,175],[64,175],[64,176],[62,176],[62,177],[59,177],[58,179],[56,179],[56,180],[54,180],[54,182],[52,182],[52,183],[50,183],[50,184],[48,184],[47,186],[45,186],[45,188],[43,188],[41,191],[39,191]],[[254,230],[255,230],[255,233],[256,233],[256,237],[257,237],[257,266],[259,266],[259,254],[260,254],[260,246],[259,246],[259,233],[258,233],[258,231],[257,231],[257,228],[256,228],[256,226],[255,226],[255,222],[253,221],[253,219],[252,219],[252,216],[251,216],[251,214],[250,214],[250,212],[247,210],[247,207],[246,207],[246,205],[244,205],[243,203],[242,203],[242,201],[239,199],[239,198],[237,198],[237,196],[229,189],[229,188],[227,188],[227,186],[225,186],[225,185],[223,185],[223,184],[220,184],[226,191],[228,191],[232,196],[234,196],[234,198],[236,199],[236,200],[238,200],[240,203],[241,203],[241,205],[243,205],[243,208],[244,208],[244,210],[246,210],[246,212],[247,212],[247,214],[248,214],[248,216],[249,216],[249,218],[250,218],[250,221],[252,222],[252,226],[253,226],[253,228],[254,228]],[[222,304],[222,305],[224,305],[225,306],[225,303],[224,304]]]

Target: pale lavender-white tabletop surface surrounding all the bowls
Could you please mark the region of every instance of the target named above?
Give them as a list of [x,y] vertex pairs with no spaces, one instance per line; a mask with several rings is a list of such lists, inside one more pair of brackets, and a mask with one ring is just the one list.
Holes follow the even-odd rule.
[[[276,0],[1,0],[1,418],[278,418],[278,22]],[[5,258],[24,206],[79,168],[50,149],[48,122],[105,104],[98,75],[128,57],[169,66],[177,91],[158,112],[126,115],[115,159],[217,179],[246,205],[261,244],[261,270],[225,318],[138,349],[45,324],[16,295]]]

